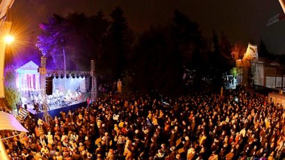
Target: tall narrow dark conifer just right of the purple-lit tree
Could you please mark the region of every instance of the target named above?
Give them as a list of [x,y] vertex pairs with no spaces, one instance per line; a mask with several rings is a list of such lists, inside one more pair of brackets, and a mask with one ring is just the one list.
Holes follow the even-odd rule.
[[124,17],[122,8],[115,8],[111,13],[111,27],[104,38],[104,62],[109,73],[115,79],[121,78],[127,68],[133,34]]

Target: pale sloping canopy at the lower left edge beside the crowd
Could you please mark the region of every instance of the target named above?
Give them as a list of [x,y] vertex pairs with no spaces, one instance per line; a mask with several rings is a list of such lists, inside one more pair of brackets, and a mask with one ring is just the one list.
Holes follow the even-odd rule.
[[16,130],[20,132],[29,132],[19,121],[12,115],[6,112],[0,112],[0,130]]

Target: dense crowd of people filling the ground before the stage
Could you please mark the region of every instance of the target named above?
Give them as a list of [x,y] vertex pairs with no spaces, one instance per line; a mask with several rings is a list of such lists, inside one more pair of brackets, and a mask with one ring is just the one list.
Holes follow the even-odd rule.
[[266,96],[238,88],[163,102],[147,95],[98,98],[47,123],[28,116],[22,124],[29,132],[4,145],[10,159],[285,157],[284,107],[267,103]]

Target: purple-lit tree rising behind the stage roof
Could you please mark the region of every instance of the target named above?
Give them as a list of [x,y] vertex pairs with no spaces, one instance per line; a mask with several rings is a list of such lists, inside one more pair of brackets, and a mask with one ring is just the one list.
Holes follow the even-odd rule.
[[67,17],[54,15],[40,28],[36,46],[43,55],[51,55],[57,69],[86,70],[90,69],[90,59],[99,57],[98,46],[108,21],[102,12],[93,17],[74,12]]

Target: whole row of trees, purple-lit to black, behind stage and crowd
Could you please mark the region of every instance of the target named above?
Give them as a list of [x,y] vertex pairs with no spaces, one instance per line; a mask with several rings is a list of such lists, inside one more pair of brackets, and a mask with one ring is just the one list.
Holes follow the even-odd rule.
[[91,17],[54,15],[49,23],[40,25],[37,46],[44,55],[51,55],[58,69],[63,68],[63,51],[68,69],[89,69],[90,59],[95,59],[99,82],[124,78],[131,84],[129,89],[146,93],[184,93],[186,71],[194,73],[191,78],[197,89],[205,79],[217,85],[222,73],[234,64],[224,33],[220,41],[213,33],[214,50],[209,50],[198,24],[179,10],[174,10],[167,24],[150,26],[137,35],[129,28],[122,8],[115,8],[109,16],[110,21],[101,10]]

